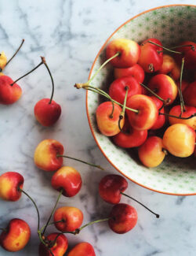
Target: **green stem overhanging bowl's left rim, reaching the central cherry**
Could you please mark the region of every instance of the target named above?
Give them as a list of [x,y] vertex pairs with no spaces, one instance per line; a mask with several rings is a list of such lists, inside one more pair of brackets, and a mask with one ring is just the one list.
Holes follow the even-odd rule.
[[[83,88],[83,89],[88,90],[88,91],[93,91],[93,92],[95,92],[99,95],[102,95],[105,98],[109,99],[111,102],[116,103],[118,106],[123,106],[121,103],[115,101],[113,98],[111,98],[110,95],[108,95],[105,91],[101,90],[100,88],[90,86],[86,83],[75,83],[74,87],[76,87],[77,89]],[[125,106],[125,109],[128,109],[128,110],[130,110],[132,112],[135,112],[135,113],[139,113],[138,109],[131,109],[128,106]]]

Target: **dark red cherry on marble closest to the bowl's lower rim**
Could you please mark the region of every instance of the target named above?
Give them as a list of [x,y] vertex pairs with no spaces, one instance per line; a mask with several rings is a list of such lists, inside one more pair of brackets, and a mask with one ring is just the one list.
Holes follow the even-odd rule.
[[116,174],[108,174],[100,180],[100,197],[106,202],[116,204],[121,200],[121,192],[124,192],[127,187],[128,183],[125,178]]

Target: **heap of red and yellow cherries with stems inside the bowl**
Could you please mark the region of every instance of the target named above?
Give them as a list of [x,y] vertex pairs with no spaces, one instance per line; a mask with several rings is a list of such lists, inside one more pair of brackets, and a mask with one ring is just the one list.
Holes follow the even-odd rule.
[[[147,167],[160,165],[168,152],[196,156],[196,43],[168,49],[154,38],[140,45],[114,39],[106,58],[90,80],[74,85],[107,98],[96,109],[100,132],[118,147],[137,148]],[[107,62],[114,67],[108,93],[90,84]]]

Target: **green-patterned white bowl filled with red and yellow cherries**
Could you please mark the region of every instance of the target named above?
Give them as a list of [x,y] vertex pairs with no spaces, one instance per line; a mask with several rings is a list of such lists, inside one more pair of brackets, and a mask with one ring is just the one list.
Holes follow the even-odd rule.
[[196,6],[162,6],[122,24],[86,83],[103,155],[136,184],[196,195]]

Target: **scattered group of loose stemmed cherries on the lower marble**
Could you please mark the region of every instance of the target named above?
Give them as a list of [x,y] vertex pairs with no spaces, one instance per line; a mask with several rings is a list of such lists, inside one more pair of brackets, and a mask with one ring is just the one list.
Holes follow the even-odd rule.
[[[122,195],[129,198],[129,195],[124,193],[128,187],[124,177],[119,175],[107,175],[100,180],[99,192],[100,197],[104,201],[114,204],[109,216],[104,219],[91,221],[82,225],[83,213],[76,207],[64,206],[56,210],[57,203],[60,201],[61,195],[65,197],[73,197],[77,195],[82,187],[82,178],[80,173],[71,166],[62,166],[63,158],[71,158],[64,155],[63,145],[55,139],[45,139],[38,144],[34,151],[34,164],[46,172],[55,173],[52,176],[52,187],[59,191],[55,206],[49,219],[45,225],[40,227],[40,213],[34,199],[24,191],[24,177],[20,173],[7,172],[0,176],[0,198],[7,201],[15,202],[20,199],[21,194],[33,202],[38,213],[38,237],[40,239],[39,255],[40,256],[63,256],[67,251],[68,240],[64,234],[78,235],[83,228],[90,224],[95,224],[101,221],[107,221],[113,232],[124,234],[135,227],[137,222],[137,213],[135,208],[125,203],[119,203]],[[77,158],[71,158],[76,161],[81,161],[88,165],[86,161]],[[93,165],[96,168],[103,169],[99,165]],[[136,199],[132,198],[136,202]],[[140,202],[139,202],[140,203]],[[140,203],[141,204],[141,203]],[[143,205],[143,204],[141,204]],[[147,210],[151,211],[144,206]],[[154,213],[151,211],[151,213]],[[156,217],[158,214],[154,213]],[[53,217],[53,221],[51,218]],[[45,231],[49,225],[55,225],[58,232],[53,232],[45,236]],[[22,250],[28,243],[31,236],[31,229],[26,221],[15,218],[9,221],[9,225],[2,229],[0,235],[0,244],[5,250],[18,251]],[[95,251],[90,243],[78,243],[72,248],[67,256],[95,256]]]

